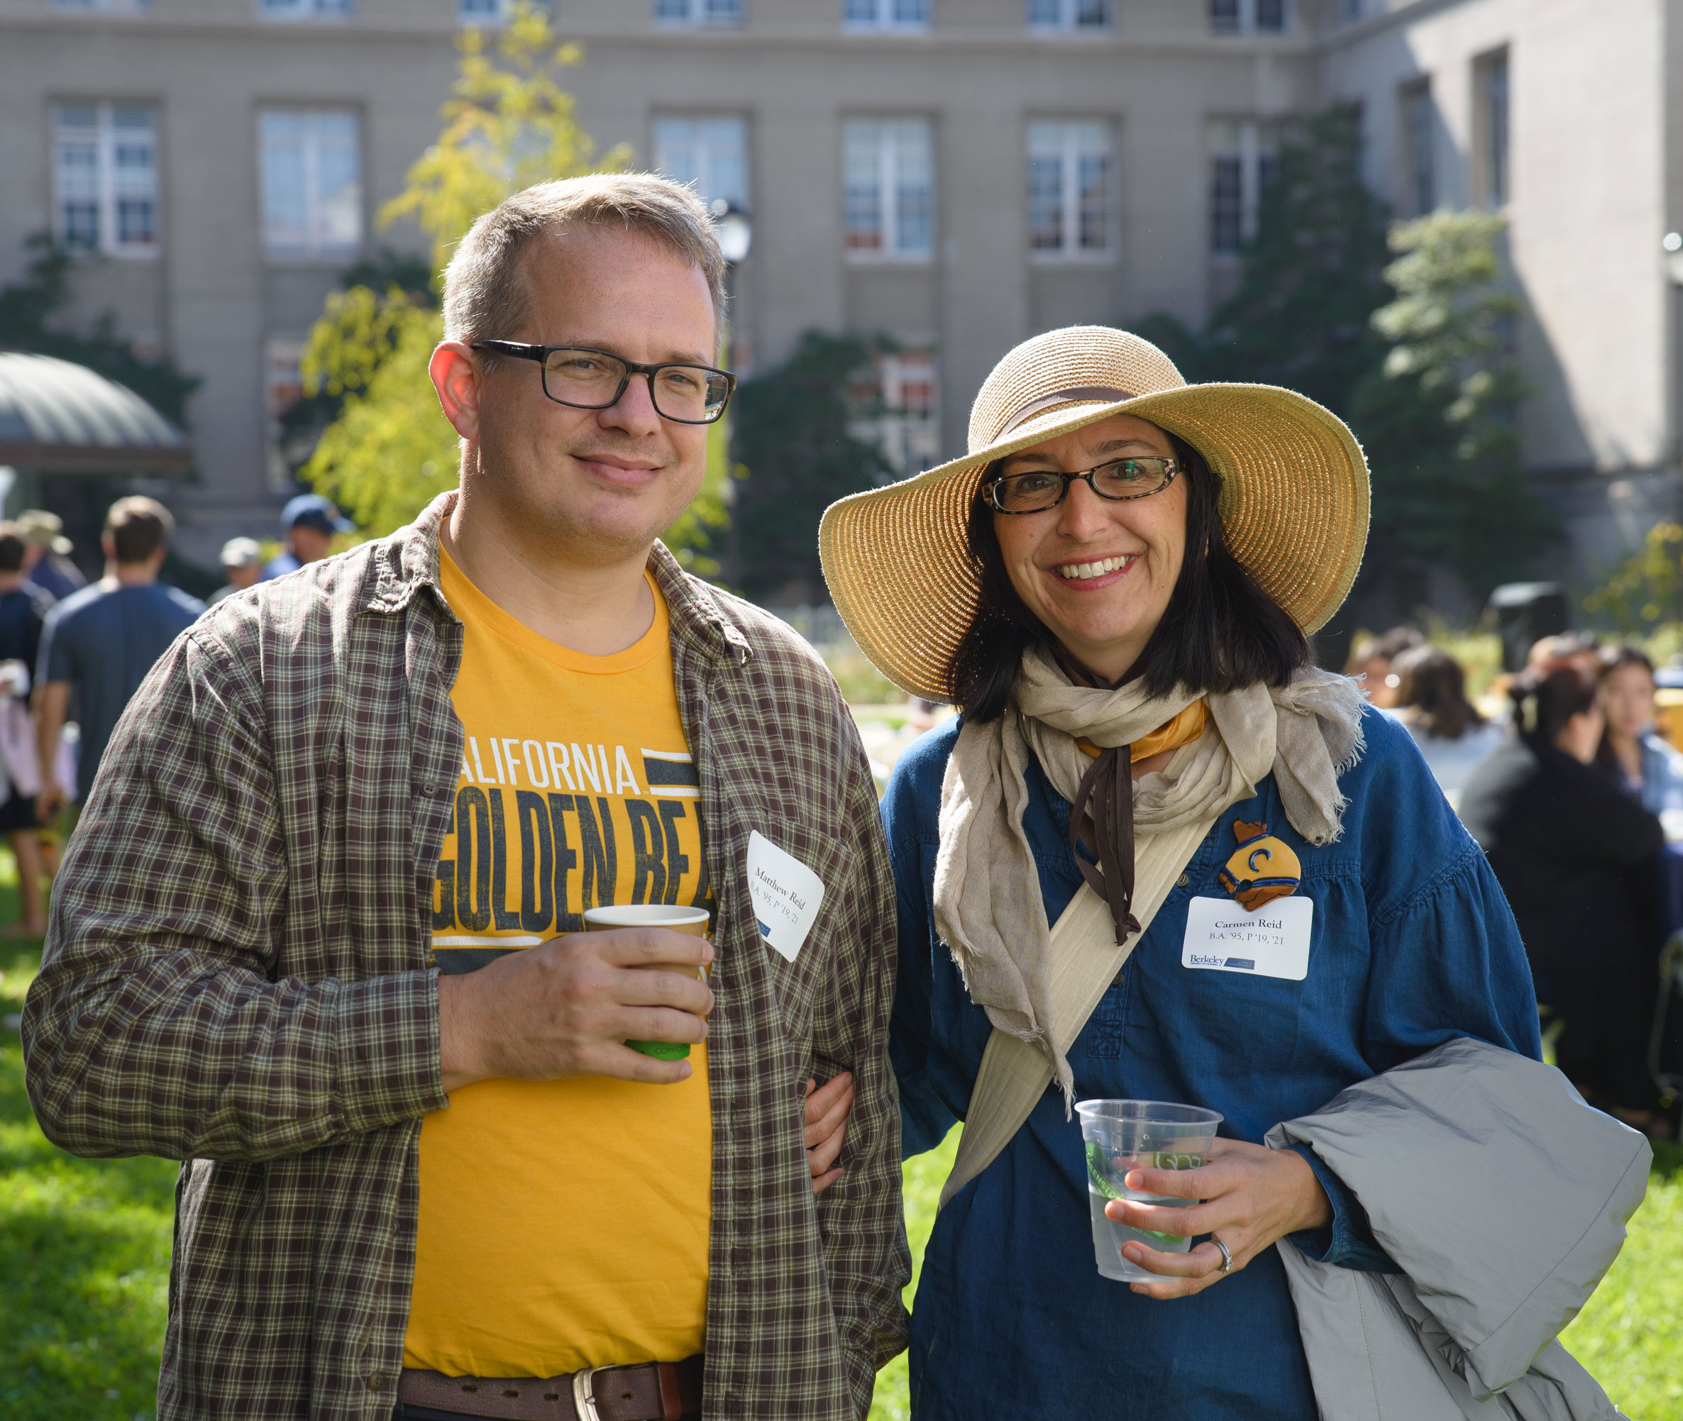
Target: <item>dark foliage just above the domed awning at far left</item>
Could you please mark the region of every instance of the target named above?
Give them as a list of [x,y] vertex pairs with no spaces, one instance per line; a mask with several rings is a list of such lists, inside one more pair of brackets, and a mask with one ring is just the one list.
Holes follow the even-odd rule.
[[141,355],[133,342],[116,333],[116,317],[109,311],[86,335],[57,328],[54,318],[71,300],[71,253],[49,236],[34,236],[25,246],[34,256],[24,279],[0,286],[0,350],[57,355],[88,365],[185,424],[187,397],[199,387],[199,377],[185,374],[172,355]]

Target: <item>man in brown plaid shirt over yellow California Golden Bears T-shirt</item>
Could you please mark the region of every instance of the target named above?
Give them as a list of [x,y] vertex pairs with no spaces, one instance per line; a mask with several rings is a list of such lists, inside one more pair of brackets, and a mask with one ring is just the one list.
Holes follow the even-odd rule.
[[[459,493],[219,606],[118,731],[24,1032],[56,1142],[188,1162],[165,1421],[675,1418],[697,1352],[709,1418],[862,1418],[904,1347],[870,768],[810,648],[656,542],[722,273],[663,178],[481,217]],[[608,902],[712,941],[577,931]],[[836,1177],[801,1101],[826,1133],[848,1076]]]

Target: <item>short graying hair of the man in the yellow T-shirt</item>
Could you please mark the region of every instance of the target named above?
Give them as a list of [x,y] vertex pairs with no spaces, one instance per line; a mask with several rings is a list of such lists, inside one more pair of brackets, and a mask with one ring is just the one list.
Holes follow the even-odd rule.
[[702,200],[655,173],[594,173],[517,192],[468,229],[444,269],[444,338],[510,340],[530,311],[525,249],[576,227],[619,227],[677,253],[707,278],[724,330],[725,259]]

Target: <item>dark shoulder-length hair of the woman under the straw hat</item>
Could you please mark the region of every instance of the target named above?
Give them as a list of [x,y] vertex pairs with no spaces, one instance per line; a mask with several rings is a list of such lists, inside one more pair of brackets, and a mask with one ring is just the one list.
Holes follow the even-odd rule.
[[[1176,685],[1215,692],[1257,682],[1286,685],[1298,667],[1309,663],[1309,641],[1227,551],[1217,514],[1220,480],[1203,455],[1173,434],[1170,441],[1187,482],[1187,552],[1163,621],[1129,668],[1128,680],[1143,682],[1151,695]],[[1005,571],[993,508],[981,497],[995,473],[996,466],[983,473],[966,527],[981,599],[948,662],[954,704],[966,719],[983,724],[1005,714],[1023,652],[1028,647],[1057,652],[1059,647]],[[1060,660],[1067,665],[1067,653]]]

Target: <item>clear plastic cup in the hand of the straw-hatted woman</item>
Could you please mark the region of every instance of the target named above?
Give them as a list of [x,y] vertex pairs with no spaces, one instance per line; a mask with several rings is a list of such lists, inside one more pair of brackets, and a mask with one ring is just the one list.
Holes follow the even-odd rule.
[[1123,1180],[1129,1170],[1138,1168],[1197,1168],[1210,1157],[1222,1116],[1213,1110],[1168,1101],[1082,1101],[1075,1113],[1080,1116],[1087,1155],[1087,1205],[1092,1211],[1092,1251],[1099,1273],[1121,1283],[1161,1280],[1161,1273],[1129,1263],[1123,1256],[1123,1244],[1138,1241],[1158,1253],[1185,1253],[1192,1248],[1192,1239],[1118,1224],[1104,1216],[1104,1205],[1112,1199],[1161,1204],[1168,1209],[1188,1209],[1200,1202],[1139,1194]]

